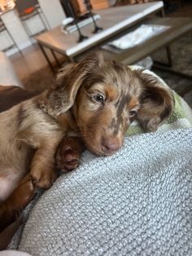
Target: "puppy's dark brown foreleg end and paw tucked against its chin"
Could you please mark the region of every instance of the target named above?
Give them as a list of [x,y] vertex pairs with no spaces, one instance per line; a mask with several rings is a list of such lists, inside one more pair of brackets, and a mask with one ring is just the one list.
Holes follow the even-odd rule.
[[56,168],[62,172],[76,169],[85,145],[79,137],[63,138],[56,153]]

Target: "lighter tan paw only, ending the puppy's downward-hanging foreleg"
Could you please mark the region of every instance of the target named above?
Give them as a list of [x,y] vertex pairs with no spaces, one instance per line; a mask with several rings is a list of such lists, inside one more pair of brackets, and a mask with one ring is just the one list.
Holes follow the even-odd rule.
[[57,179],[58,174],[54,170],[32,170],[30,173],[36,188],[48,189]]

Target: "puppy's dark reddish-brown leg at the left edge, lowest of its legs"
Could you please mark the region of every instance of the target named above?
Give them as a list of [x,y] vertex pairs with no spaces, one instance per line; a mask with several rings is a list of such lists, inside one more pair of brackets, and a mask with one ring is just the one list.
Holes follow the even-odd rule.
[[27,174],[11,193],[11,196],[0,205],[0,232],[15,221],[20,210],[28,205],[35,193],[33,179]]

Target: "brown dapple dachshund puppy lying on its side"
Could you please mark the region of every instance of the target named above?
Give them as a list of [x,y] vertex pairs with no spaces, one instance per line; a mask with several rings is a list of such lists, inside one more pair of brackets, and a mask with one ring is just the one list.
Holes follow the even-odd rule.
[[57,168],[78,165],[84,145],[109,156],[134,118],[145,130],[156,130],[173,105],[172,91],[155,77],[96,53],[64,67],[41,95],[0,113],[1,229],[37,188],[50,188]]

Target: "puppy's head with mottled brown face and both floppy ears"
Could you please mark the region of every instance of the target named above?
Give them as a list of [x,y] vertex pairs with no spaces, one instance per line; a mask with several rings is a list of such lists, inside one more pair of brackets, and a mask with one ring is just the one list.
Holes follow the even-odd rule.
[[50,93],[58,113],[72,112],[86,147],[97,155],[111,155],[137,118],[155,130],[172,111],[172,95],[142,71],[90,55],[59,73]]

